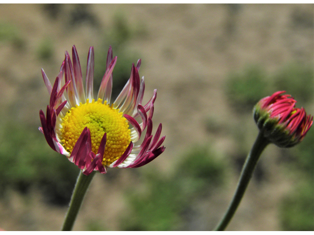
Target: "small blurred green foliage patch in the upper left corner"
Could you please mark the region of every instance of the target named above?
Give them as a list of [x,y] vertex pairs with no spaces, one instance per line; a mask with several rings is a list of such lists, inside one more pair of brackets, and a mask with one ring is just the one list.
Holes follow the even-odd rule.
[[22,49],[25,46],[25,41],[20,36],[18,28],[5,22],[0,23],[0,42],[1,41],[10,42],[17,49]]

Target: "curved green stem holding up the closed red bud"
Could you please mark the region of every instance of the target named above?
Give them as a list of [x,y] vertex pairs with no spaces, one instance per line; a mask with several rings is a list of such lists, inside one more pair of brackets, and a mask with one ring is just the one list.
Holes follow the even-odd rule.
[[229,205],[228,210],[226,211],[225,215],[215,228],[215,231],[223,231],[227,227],[228,223],[232,219],[238,205],[241,202],[241,199],[244,195],[245,189],[247,188],[250,179],[252,177],[253,171],[255,166],[262,154],[264,148],[270,143],[260,131],[250,153],[248,154],[246,161],[243,165],[242,172],[240,175],[240,179],[235,190],[235,195]]

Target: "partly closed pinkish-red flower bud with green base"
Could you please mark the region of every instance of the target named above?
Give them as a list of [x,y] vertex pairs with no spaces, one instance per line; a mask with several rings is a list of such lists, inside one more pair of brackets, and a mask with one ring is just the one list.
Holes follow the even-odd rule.
[[313,116],[304,108],[295,108],[296,100],[280,91],[262,98],[253,115],[264,137],[279,147],[292,147],[301,142],[313,124]]

